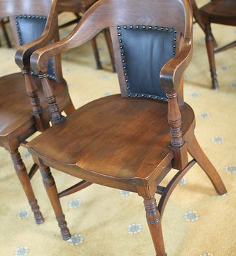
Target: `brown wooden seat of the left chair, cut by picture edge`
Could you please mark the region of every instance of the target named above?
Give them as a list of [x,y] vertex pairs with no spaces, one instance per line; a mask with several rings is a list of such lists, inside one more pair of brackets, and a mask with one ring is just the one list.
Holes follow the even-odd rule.
[[[41,99],[41,105],[46,110],[47,102],[43,97],[43,90],[40,79],[33,77],[38,86],[38,95]],[[65,84],[59,84],[55,80],[50,80],[56,93],[58,94],[59,106],[62,110],[68,104],[67,97],[63,97],[62,93],[67,91]],[[65,95],[66,96],[66,95]],[[25,80],[21,73],[6,75],[0,78],[0,144],[1,139],[9,137],[22,127],[33,127],[35,124],[30,105],[30,99],[26,92]],[[50,111],[47,109],[48,121],[50,120]],[[35,130],[32,132],[35,132]]]

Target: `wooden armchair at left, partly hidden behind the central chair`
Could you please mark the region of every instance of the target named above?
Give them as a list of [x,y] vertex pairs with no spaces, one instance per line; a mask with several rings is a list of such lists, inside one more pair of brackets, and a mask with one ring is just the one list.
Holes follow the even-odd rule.
[[[15,45],[17,48],[22,46],[16,53],[16,59],[23,73],[23,75],[15,73],[0,78],[0,146],[4,146],[11,154],[16,174],[38,224],[43,222],[43,216],[30,184],[30,178],[35,174],[38,166],[34,165],[28,175],[18,147],[21,143],[26,143],[25,140],[36,131],[42,132],[49,127],[50,110],[43,97],[40,79],[30,74],[30,55],[34,50],[58,38],[55,4],[56,1],[52,4],[47,0],[0,1],[0,16],[9,16]],[[49,12],[50,16],[47,20],[46,16]],[[35,40],[36,38],[38,39]],[[29,43],[30,41],[33,42]],[[60,110],[65,110],[67,114],[72,112],[74,107],[69,97],[67,83],[62,78],[60,55],[50,60],[47,71],[52,87],[57,93]],[[53,112],[53,104],[50,104],[50,109]]]

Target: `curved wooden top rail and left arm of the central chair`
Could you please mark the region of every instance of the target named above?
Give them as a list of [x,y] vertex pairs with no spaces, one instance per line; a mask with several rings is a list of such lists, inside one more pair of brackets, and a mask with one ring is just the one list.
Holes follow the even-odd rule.
[[[162,26],[175,28],[179,33],[179,38],[183,38],[185,45],[191,48],[192,13],[189,0],[149,0],[145,1],[145,4],[143,4],[143,1],[137,0],[100,0],[84,14],[82,20],[67,38],[53,44],[52,47],[43,48],[40,54],[40,51],[33,54],[31,58],[32,67],[37,73],[45,73],[47,61],[51,56],[83,45],[94,38],[103,28],[110,27],[114,38],[116,27],[128,23],[148,23],[150,26],[162,24]],[[113,40],[115,52],[116,43]],[[119,68],[118,73],[120,77]],[[174,75],[178,77],[179,83],[182,74]],[[121,83],[123,83],[122,80]],[[177,81],[173,81],[173,83],[176,84]],[[162,86],[166,87],[165,91],[171,90],[171,88],[167,88],[165,82],[162,82]],[[179,85],[174,87],[176,86]]]

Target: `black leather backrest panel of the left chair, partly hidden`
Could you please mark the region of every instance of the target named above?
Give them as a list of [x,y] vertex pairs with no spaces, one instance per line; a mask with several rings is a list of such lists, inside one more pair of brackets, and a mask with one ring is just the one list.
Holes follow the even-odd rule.
[[[40,37],[45,29],[47,17],[37,15],[18,15],[15,16],[16,30],[20,46]],[[55,79],[55,70],[53,59],[50,59],[47,74],[50,78]]]

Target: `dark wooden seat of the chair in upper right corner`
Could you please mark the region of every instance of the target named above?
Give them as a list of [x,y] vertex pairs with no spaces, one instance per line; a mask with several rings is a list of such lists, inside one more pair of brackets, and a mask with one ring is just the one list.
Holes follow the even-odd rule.
[[235,0],[210,1],[210,3],[203,6],[199,11],[201,15],[208,16],[211,22],[236,25]]

